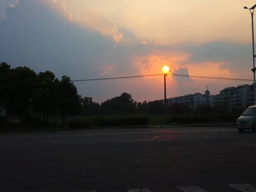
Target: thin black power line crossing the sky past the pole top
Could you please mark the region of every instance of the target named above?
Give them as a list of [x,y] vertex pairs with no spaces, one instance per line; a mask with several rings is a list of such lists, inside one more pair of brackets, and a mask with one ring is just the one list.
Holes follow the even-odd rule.
[[[161,74],[145,75],[145,76],[126,76],[126,77],[113,77],[113,78],[102,78],[102,79],[80,79],[80,80],[73,80],[73,82],[78,82],[78,81],[101,81],[101,80],[111,80],[111,79],[128,79],[128,78],[163,76],[163,75],[164,74],[161,73]],[[171,76],[203,78],[203,79],[220,79],[220,80],[232,80],[232,81],[253,81],[253,79],[235,79],[235,78],[207,77],[207,76],[189,76],[189,75],[180,75],[180,74],[172,74]]]

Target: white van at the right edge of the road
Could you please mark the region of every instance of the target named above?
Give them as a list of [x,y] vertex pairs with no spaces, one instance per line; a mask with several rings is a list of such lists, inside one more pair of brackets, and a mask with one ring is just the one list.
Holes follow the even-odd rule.
[[240,132],[244,130],[256,131],[256,105],[248,107],[244,113],[236,120],[237,128]]

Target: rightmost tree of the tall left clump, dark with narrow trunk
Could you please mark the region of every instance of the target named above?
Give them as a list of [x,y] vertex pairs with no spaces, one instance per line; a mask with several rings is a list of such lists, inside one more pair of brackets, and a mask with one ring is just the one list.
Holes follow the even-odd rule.
[[81,96],[78,95],[76,86],[68,76],[62,76],[59,83],[58,108],[61,111],[62,125],[68,114],[74,115],[81,112]]

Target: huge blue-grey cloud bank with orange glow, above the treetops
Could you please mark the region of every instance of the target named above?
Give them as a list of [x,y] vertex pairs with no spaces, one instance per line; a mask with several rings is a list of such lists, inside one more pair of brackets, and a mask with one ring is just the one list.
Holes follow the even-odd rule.
[[[155,75],[162,73],[164,65],[170,67],[171,73],[236,77],[232,62],[246,61],[239,55],[250,55],[247,52],[251,49],[243,44],[234,48],[227,43],[159,46],[154,41],[140,39],[101,11],[87,9],[79,20],[72,19],[64,3],[53,0],[20,0],[9,6],[6,20],[0,22],[0,44],[4,45],[0,47],[0,61],[13,67],[26,65],[37,72],[52,70],[59,78],[67,75],[74,80]],[[163,98],[163,80],[163,76],[148,76],[76,82],[76,86],[81,95],[92,96],[99,102],[124,91],[143,101]],[[166,80],[168,97],[203,92],[207,84],[212,93],[231,83],[239,84],[171,74]]]

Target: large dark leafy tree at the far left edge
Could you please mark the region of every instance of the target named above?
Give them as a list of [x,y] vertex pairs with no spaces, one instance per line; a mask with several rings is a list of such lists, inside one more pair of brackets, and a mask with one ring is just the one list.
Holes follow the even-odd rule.
[[4,62],[0,64],[0,81],[0,105],[6,108],[7,122],[13,114],[19,114],[20,119],[26,118],[32,92],[37,86],[36,73],[28,67],[11,69]]

